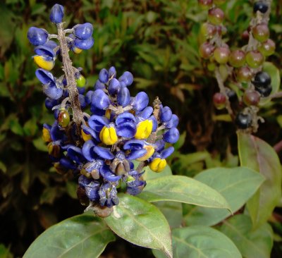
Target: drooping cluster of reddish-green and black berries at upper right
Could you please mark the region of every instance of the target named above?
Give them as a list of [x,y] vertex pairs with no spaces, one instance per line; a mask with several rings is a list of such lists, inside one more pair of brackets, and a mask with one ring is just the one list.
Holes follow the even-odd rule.
[[[224,4],[224,0],[198,0],[203,8],[208,9],[208,21],[203,23],[200,29],[200,56],[209,61],[209,70],[214,70],[220,92],[214,94],[216,109],[226,107],[228,113],[233,116],[231,98],[233,90],[238,95],[240,106],[243,110],[235,111],[235,123],[240,129],[256,131],[259,102],[271,94],[271,78],[263,71],[264,60],[274,54],[275,43],[269,39],[269,0],[256,1],[253,6],[254,17],[250,27],[243,33],[247,37],[248,44],[241,49],[230,49],[223,42],[222,36],[226,33],[223,26],[224,13],[216,4]],[[233,85],[232,90],[224,86],[228,80]],[[235,86],[235,88],[234,88]]]

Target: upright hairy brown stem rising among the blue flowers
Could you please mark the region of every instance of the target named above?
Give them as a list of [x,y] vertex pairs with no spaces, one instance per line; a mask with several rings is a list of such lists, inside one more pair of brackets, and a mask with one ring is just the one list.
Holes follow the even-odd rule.
[[58,39],[61,48],[61,56],[63,59],[63,71],[66,75],[69,100],[73,109],[73,121],[76,123],[76,125],[79,126],[81,125],[81,123],[85,123],[85,121],[83,118],[82,110],[80,109],[80,102],[78,99],[79,93],[75,82],[75,68],[73,67],[73,63],[70,59],[70,56],[68,55],[68,44],[66,41],[65,32],[63,31],[63,23],[57,24],[57,28]]

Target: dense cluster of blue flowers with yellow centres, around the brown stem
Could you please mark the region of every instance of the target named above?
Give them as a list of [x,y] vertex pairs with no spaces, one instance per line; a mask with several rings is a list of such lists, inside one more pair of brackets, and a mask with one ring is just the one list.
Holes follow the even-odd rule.
[[[56,4],[50,20],[62,23],[63,6]],[[69,50],[79,53],[92,47],[92,25],[85,23],[66,30]],[[114,67],[102,69],[94,89],[85,92],[85,78],[80,68],[75,69],[83,121],[73,122],[68,78],[55,78],[49,71],[54,67],[61,47],[50,40],[44,29],[30,27],[27,34],[35,45],[33,59],[39,68],[37,78],[47,95],[46,107],[54,110],[53,125],[44,124],[43,138],[48,144],[49,155],[60,173],[72,170],[79,174],[78,197],[80,202],[92,202],[100,207],[118,204],[118,189],[137,195],[145,187],[142,179],[144,166],[160,172],[166,158],[173,153],[173,144],[179,138],[178,117],[159,99],[148,106],[149,97],[139,92],[130,97],[128,87],[133,75],[126,71],[117,77]],[[56,37],[53,35],[53,37]],[[133,161],[140,165],[134,168]]]

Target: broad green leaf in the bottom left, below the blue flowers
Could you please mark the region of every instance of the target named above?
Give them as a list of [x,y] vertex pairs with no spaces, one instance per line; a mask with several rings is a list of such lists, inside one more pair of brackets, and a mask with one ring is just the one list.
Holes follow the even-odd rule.
[[100,219],[82,214],[61,221],[32,242],[24,258],[99,257],[114,234]]

